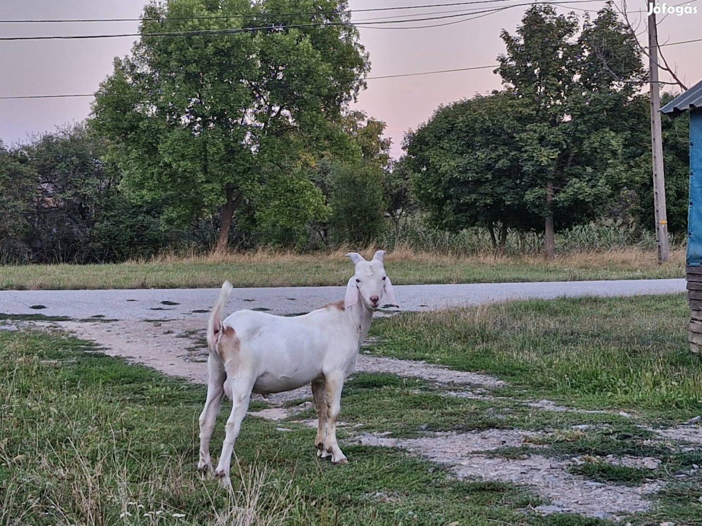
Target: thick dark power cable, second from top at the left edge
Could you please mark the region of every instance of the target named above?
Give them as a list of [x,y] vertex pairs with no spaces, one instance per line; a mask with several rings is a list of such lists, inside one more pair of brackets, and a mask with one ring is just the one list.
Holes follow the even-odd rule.
[[[491,0],[486,0],[491,1]],[[503,0],[499,0],[503,1]],[[587,4],[590,2],[601,1],[601,0],[569,0],[569,1],[559,1],[559,4]],[[543,4],[553,4],[554,2],[543,2]],[[444,4],[449,5],[449,4]],[[505,9],[520,7],[520,6],[531,6],[531,2],[526,2],[522,4],[510,4],[508,6],[500,6],[497,8],[486,9],[484,11],[473,11],[470,14],[478,13],[496,13],[498,11],[503,11]],[[443,20],[446,18],[459,18],[465,16],[466,13],[444,15],[428,18],[408,18],[406,20],[378,20],[378,21],[366,21],[362,22],[360,27],[369,27],[371,25],[386,25],[392,23],[404,23],[404,22],[425,22],[428,20]],[[466,20],[472,20],[470,18]],[[458,22],[465,21],[459,20]],[[458,23],[456,22],[456,23]],[[109,39],[109,38],[121,38],[126,36],[199,36],[205,34],[237,34],[246,32],[256,32],[265,30],[281,30],[281,29],[295,29],[300,27],[319,27],[319,26],[355,26],[355,22],[311,22],[307,24],[292,24],[292,25],[270,25],[263,27],[237,27],[230,29],[199,29],[194,31],[170,31],[170,32],[152,32],[152,33],[124,33],[124,34],[99,34],[99,35],[52,35],[52,36],[2,36],[0,41],[20,41],[20,40],[74,40],[74,39]],[[411,26],[411,27],[389,27],[388,29],[422,29],[423,27],[439,27],[441,25],[428,25],[428,26]]]

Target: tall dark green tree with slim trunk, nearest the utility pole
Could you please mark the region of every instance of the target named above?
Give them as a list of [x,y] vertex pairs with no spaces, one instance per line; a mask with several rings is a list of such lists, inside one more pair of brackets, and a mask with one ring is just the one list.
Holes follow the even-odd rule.
[[543,217],[545,255],[554,231],[597,217],[626,182],[626,106],[644,70],[635,37],[607,4],[578,35],[574,14],[529,8],[497,69],[524,117],[517,133],[525,201]]

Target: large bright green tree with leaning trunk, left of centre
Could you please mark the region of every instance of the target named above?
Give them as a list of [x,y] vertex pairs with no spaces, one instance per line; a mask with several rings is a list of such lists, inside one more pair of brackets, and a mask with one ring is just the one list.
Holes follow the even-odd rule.
[[[147,6],[142,36],[131,56],[115,60],[93,107],[125,191],[161,203],[164,222],[218,214],[220,251],[245,200],[266,210],[264,222],[292,214],[299,224],[300,210],[308,222],[323,217],[320,195],[298,175],[310,156],[347,147],[340,112],[369,69],[345,10],[338,0]],[[202,29],[221,33],[155,35]],[[291,191],[296,199],[281,198]]]

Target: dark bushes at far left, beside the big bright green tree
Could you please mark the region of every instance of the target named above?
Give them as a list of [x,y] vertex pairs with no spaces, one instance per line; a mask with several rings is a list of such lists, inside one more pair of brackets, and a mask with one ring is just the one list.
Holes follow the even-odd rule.
[[84,262],[91,259],[91,229],[105,211],[102,199],[117,179],[100,161],[105,144],[85,126],[37,137],[0,159],[7,219],[6,261]]

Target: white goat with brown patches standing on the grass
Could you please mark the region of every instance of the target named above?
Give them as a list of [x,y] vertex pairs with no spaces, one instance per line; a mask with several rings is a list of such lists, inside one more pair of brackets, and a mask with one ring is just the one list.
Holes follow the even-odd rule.
[[399,306],[385,274],[384,256],[385,252],[378,250],[371,261],[366,261],[357,252],[349,252],[355,274],[348,281],[345,298],[303,316],[241,310],[222,321],[232,291],[231,283],[225,281],[207,328],[209,381],[200,415],[200,471],[212,471],[210,438],[225,393],[232,400],[232,413],[227,419],[215,476],[227,485],[234,441],[251,393],[280,393],[305,384],[312,384],[319,417],[314,439],[317,456],[331,454],[334,464],[347,462],[336,442],[341,389],[356,365],[359,348],[371,327],[373,309],[380,304],[383,292],[390,304]]

